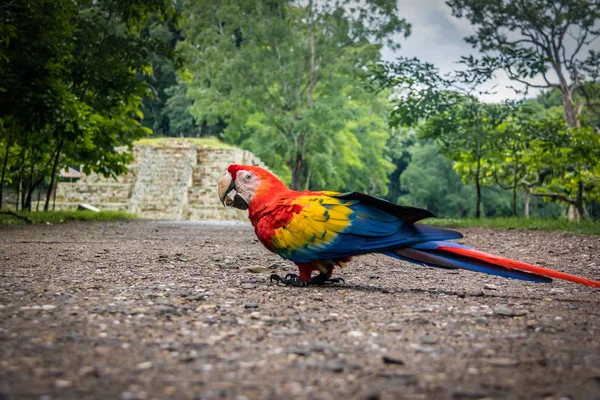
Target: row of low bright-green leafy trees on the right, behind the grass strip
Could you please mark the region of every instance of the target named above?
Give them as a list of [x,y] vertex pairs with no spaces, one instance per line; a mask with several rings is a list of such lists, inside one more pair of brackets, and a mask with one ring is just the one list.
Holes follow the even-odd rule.
[[519,196],[526,215],[531,196],[569,205],[573,218],[585,215],[585,204],[598,198],[597,85],[582,84],[585,93],[576,94],[580,104],[585,100],[581,121],[586,127],[567,129],[574,125],[563,121],[558,89],[523,104],[485,104],[468,93],[472,89],[458,89],[464,76],[441,76],[433,65],[399,58],[379,65],[373,80],[395,93],[391,124],[413,126],[421,138],[434,139],[463,182],[475,183],[476,216],[482,214],[482,187],[492,184],[511,190],[515,216]]

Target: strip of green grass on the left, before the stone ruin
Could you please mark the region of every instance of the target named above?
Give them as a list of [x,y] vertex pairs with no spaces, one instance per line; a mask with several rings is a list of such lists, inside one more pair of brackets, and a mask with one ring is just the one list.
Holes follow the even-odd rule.
[[[18,212],[19,215],[29,217],[34,224],[64,224],[71,221],[119,221],[136,219],[137,216],[123,211],[39,211]],[[13,215],[0,214],[0,225],[24,225],[25,221]]]

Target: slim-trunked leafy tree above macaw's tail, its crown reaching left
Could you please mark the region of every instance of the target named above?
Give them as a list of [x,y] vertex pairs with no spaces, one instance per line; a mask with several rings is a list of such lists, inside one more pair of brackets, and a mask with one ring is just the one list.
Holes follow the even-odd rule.
[[482,186],[495,148],[493,134],[513,105],[485,104],[459,88],[456,79],[441,76],[432,64],[398,58],[380,64],[372,75],[380,87],[395,89],[390,115],[393,127],[418,127],[419,136],[434,139],[440,151],[456,162],[465,181],[475,183],[475,216],[481,216]]

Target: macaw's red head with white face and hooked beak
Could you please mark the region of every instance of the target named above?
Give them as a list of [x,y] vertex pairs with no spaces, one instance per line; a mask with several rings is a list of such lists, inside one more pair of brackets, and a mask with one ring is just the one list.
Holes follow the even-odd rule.
[[247,210],[252,202],[264,200],[273,190],[281,189],[287,187],[266,169],[231,164],[219,181],[219,199],[224,206]]

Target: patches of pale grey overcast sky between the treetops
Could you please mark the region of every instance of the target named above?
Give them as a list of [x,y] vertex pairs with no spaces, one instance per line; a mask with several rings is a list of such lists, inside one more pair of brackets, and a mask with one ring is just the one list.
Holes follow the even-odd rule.
[[[421,61],[434,64],[442,73],[446,73],[460,67],[456,64],[460,56],[477,54],[477,51],[464,41],[465,36],[473,33],[468,20],[454,18],[444,0],[398,0],[398,9],[399,15],[412,24],[412,34],[407,39],[398,38],[402,47],[397,52],[384,49],[385,60],[392,61],[398,56],[417,57]],[[514,90],[506,87],[515,83],[503,73],[498,73],[489,87],[493,85],[497,85],[494,88],[496,93],[482,96],[482,100],[497,102],[523,97],[522,94],[517,95]],[[531,89],[528,97],[536,93]]]

